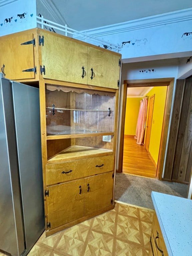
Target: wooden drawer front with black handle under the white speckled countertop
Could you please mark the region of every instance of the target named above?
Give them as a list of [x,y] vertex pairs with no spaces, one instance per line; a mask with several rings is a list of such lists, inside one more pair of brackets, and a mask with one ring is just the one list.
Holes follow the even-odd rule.
[[[156,213],[154,213],[154,217],[153,217],[152,233],[154,236],[154,242],[155,242],[155,246],[156,246],[156,250],[157,250],[157,255],[158,256],[162,256],[162,255],[169,256],[167,249],[166,249],[164,239],[163,239],[161,228],[159,226],[159,221],[157,219]],[[162,252],[163,252],[163,254],[162,254]]]

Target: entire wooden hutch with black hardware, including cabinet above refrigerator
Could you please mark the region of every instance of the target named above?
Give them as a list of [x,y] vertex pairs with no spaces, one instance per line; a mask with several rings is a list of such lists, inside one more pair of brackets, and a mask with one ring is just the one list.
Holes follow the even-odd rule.
[[113,209],[121,55],[38,28],[0,44],[5,77],[40,91],[46,235]]

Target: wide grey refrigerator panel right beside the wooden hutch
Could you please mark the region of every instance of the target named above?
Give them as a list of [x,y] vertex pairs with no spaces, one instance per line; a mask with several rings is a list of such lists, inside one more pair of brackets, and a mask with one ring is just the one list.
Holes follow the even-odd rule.
[[45,229],[39,89],[12,82],[12,92],[26,255]]

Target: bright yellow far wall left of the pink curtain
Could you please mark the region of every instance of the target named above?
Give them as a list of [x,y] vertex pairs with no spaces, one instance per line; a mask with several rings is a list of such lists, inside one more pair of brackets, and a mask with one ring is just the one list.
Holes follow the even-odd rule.
[[125,135],[135,135],[141,98],[127,98],[125,112]]

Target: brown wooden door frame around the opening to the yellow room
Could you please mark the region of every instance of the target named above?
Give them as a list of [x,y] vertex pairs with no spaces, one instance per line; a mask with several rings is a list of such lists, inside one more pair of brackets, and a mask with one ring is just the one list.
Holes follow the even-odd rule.
[[168,134],[168,125],[169,125],[169,117],[171,111],[171,102],[172,102],[172,94],[173,94],[173,79],[148,79],[148,80],[134,80],[134,81],[124,81],[123,90],[122,90],[122,115],[121,121],[119,124],[120,130],[120,138],[119,138],[119,159],[117,164],[117,172],[122,172],[123,167],[123,147],[124,147],[124,125],[125,125],[125,109],[126,109],[126,98],[127,98],[127,87],[153,87],[153,86],[167,86],[167,95],[165,101],[165,113],[163,117],[163,132],[161,133],[160,140],[160,150],[159,157],[157,162],[157,171],[156,177],[158,179],[162,179],[163,172],[163,164],[164,164],[164,156],[165,156],[165,148]]

